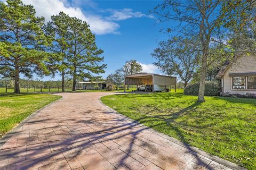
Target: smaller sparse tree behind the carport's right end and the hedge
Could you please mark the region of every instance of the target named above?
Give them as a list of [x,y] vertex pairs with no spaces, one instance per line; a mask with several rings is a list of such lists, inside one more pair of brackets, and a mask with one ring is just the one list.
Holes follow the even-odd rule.
[[154,65],[167,75],[178,75],[186,87],[198,66],[200,53],[196,37],[172,37],[158,46],[151,54],[157,60]]

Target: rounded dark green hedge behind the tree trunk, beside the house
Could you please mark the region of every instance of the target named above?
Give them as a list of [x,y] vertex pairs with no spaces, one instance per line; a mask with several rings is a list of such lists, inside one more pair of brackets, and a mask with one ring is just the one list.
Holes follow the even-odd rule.
[[[199,82],[189,84],[184,89],[185,95],[198,95],[199,91]],[[217,96],[219,91],[219,85],[218,82],[215,81],[206,81],[205,82],[205,96]]]

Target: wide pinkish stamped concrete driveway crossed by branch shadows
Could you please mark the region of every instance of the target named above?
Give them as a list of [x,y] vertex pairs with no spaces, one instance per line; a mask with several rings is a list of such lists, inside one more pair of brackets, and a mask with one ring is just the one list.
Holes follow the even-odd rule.
[[107,94],[59,94],[0,140],[0,169],[239,168],[111,111]]

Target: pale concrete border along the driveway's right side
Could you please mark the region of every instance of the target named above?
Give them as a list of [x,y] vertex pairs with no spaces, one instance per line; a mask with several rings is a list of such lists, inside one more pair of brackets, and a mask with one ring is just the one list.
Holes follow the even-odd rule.
[[[108,95],[104,95],[104,96],[108,96]],[[103,96],[101,96],[101,97],[103,97]],[[101,97],[100,97],[100,98],[101,98]],[[111,108],[111,107],[109,107],[109,106],[103,104],[100,98],[99,98],[100,103],[101,103],[103,106],[105,106],[106,108],[108,108],[111,112],[114,112],[114,113],[116,113],[116,114],[118,114],[118,115],[121,115],[121,116],[127,118],[127,119],[130,120],[130,121],[137,122],[137,123],[139,123],[140,125],[142,125],[143,127],[148,127],[148,126],[145,126],[145,125],[141,124],[141,123],[138,122],[138,121],[135,121],[135,120],[131,119],[130,117],[127,117],[127,116],[125,116],[125,115],[123,115],[123,114],[121,114],[121,113],[118,113],[118,112],[115,111],[113,108]],[[147,130],[149,130],[150,132],[153,132],[153,133],[155,133],[155,134],[157,134],[157,135],[159,135],[159,136],[161,136],[161,137],[163,137],[163,138],[165,138],[165,139],[167,139],[167,140],[170,140],[171,142],[174,142],[174,143],[176,143],[177,145],[179,145],[179,146],[181,146],[181,147],[184,147],[184,148],[186,148],[186,149],[189,149],[189,150],[191,150],[191,151],[196,152],[196,155],[202,155],[202,156],[204,156],[204,157],[206,157],[206,158],[212,159],[213,161],[215,161],[215,162],[217,162],[217,163],[219,163],[219,164],[222,164],[222,165],[224,165],[224,166],[226,166],[226,167],[228,167],[228,168],[231,168],[231,169],[234,169],[234,170],[245,170],[245,169],[246,169],[246,168],[241,167],[241,166],[239,166],[239,165],[237,165],[237,164],[231,163],[231,162],[229,162],[228,160],[222,159],[222,158],[220,158],[220,157],[218,157],[218,156],[210,155],[210,154],[208,154],[207,152],[205,152],[205,151],[203,151],[203,150],[201,150],[201,149],[198,149],[198,148],[196,148],[196,147],[190,146],[190,145],[188,145],[187,143],[181,142],[181,141],[179,141],[178,139],[175,139],[175,138],[173,138],[173,137],[169,137],[168,135],[166,135],[166,134],[164,134],[164,133],[161,133],[161,132],[158,132],[158,131],[156,131],[156,130],[154,130],[154,129],[152,129],[152,128],[149,128],[149,127],[148,127]]]

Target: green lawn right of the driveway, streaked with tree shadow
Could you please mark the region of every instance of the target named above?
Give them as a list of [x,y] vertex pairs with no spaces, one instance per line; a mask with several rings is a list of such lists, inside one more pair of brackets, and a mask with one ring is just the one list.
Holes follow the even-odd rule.
[[159,132],[235,164],[256,169],[256,99],[181,92],[110,95],[102,102]]

